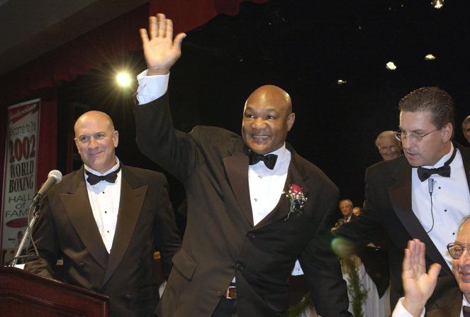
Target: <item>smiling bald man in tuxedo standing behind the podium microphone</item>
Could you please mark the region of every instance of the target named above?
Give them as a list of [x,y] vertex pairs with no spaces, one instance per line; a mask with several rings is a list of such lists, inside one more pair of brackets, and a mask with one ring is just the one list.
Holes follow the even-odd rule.
[[[118,131],[106,113],[89,111],[75,123],[84,165],[48,191],[33,232],[39,258],[25,269],[109,296],[111,316],[154,316],[159,299],[153,254],[167,276],[181,239],[164,175],[123,165]],[[29,255],[36,255],[33,246]]]

